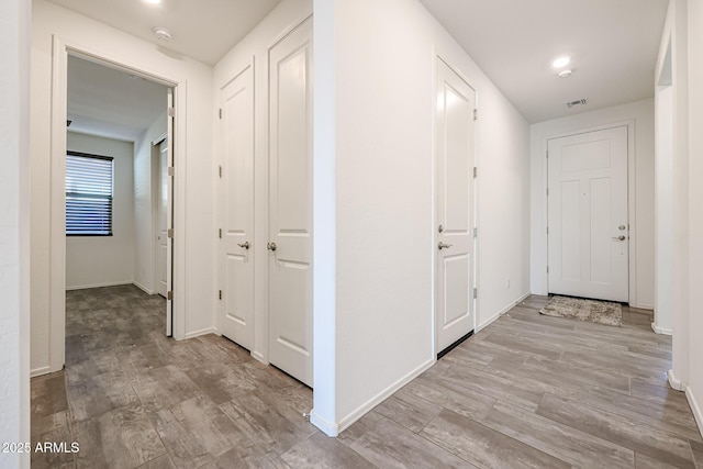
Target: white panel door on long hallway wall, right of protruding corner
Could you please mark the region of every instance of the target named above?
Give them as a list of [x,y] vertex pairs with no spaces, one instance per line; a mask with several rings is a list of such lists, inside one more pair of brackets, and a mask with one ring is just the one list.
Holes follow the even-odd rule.
[[473,331],[473,89],[437,58],[436,331],[440,353]]

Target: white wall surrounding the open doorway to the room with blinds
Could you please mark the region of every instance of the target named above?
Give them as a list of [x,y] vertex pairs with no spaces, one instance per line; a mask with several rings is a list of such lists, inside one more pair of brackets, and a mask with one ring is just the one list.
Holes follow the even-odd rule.
[[45,0],[34,0],[32,26],[33,373],[60,369],[64,361],[65,239],[60,237],[63,174],[57,155],[65,142],[66,118],[60,113],[65,109],[66,48],[177,85],[174,334],[183,338],[212,331],[212,68],[160,52],[154,44]]

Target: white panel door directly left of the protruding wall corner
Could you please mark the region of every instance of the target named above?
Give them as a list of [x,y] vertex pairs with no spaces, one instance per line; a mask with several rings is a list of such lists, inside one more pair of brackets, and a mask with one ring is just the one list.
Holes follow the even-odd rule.
[[312,19],[269,70],[269,361],[312,387]]

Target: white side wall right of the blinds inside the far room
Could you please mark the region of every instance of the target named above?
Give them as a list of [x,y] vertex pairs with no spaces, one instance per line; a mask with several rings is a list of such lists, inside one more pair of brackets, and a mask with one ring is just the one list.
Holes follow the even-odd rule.
[[[164,90],[166,103],[166,90]],[[164,105],[166,108],[166,105]],[[134,283],[147,293],[154,293],[156,237],[154,188],[154,139],[167,131],[166,111],[134,143]]]

